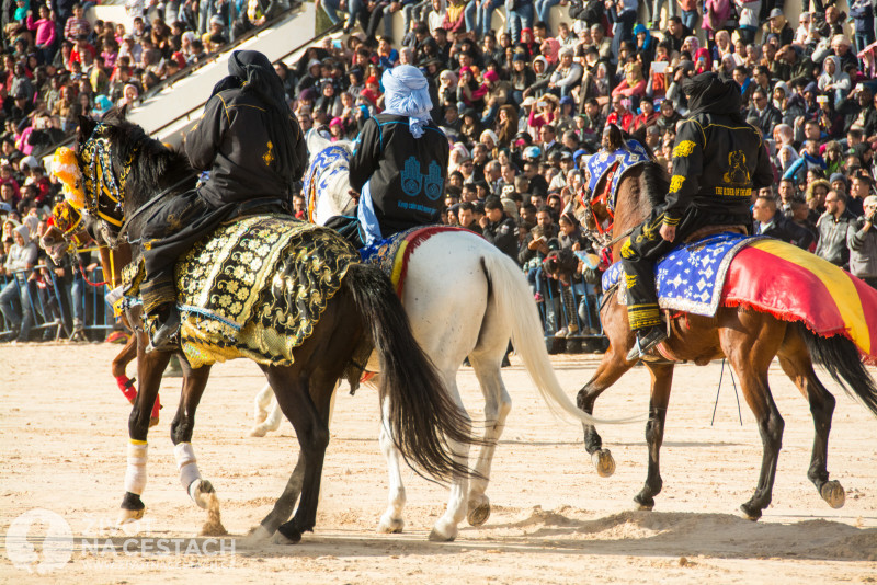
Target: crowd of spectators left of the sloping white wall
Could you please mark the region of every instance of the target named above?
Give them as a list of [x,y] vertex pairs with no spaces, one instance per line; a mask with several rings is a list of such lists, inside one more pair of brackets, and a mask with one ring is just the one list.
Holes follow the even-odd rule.
[[[100,312],[87,302],[94,291],[81,271],[69,261],[54,265],[36,244],[60,191],[38,157],[71,136],[79,116],[100,118],[114,105],[133,106],[163,80],[291,8],[287,0],[135,0],[126,3],[128,30],[122,23],[87,18],[93,4],[69,0],[3,4],[9,8],[2,18],[0,57],[4,341],[54,339],[55,326],[32,332],[37,322],[60,323],[68,336],[82,337],[84,321],[94,318],[87,312]],[[87,273],[96,266],[90,254],[79,261]],[[87,311],[87,307],[92,308]]]

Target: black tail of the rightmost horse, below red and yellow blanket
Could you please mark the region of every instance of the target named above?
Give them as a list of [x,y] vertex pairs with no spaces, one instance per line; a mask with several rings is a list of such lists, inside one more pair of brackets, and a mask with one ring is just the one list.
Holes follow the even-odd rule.
[[798,325],[810,357],[831,374],[850,395],[857,397],[877,415],[877,385],[870,377],[855,344],[843,335],[820,337],[805,325]]

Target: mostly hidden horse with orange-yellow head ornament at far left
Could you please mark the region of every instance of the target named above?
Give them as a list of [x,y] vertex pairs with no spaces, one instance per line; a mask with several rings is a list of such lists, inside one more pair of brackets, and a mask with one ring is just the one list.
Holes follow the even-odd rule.
[[[106,284],[111,286],[111,290],[122,284],[122,268],[130,262],[129,244],[123,243],[118,245],[117,249],[112,250],[106,242],[101,240],[98,230],[92,230],[94,233],[89,231],[88,227],[93,220],[83,218],[67,200],[58,203],[53,208],[52,217],[54,225],[49,226],[45,231],[39,239],[39,244],[55,262],[61,262],[64,255],[69,253],[72,256],[72,269],[76,271],[78,251],[88,245],[89,241],[92,241],[98,246],[101,268],[103,269],[104,277],[109,278]],[[82,271],[82,278],[84,279],[84,269],[82,266],[79,266],[79,269]],[[129,404],[134,404],[134,400],[137,398],[137,389],[135,388],[136,380],[128,378],[127,367],[128,364],[137,357],[138,332],[130,326],[125,313],[122,313],[121,319],[132,334],[128,336],[128,341],[125,342],[124,347],[122,347],[118,354],[113,358],[111,371],[122,394]],[[161,399],[157,394],[156,403],[152,406],[152,412],[149,417],[149,426],[156,426],[159,423],[160,409]]]

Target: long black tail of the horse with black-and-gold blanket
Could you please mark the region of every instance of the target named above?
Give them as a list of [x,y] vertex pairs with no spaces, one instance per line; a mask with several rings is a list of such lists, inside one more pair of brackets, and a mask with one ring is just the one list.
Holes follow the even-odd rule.
[[406,462],[440,480],[472,475],[454,460],[449,446],[449,441],[475,443],[469,417],[451,400],[435,366],[411,333],[389,278],[376,267],[353,264],[344,284],[378,353],[381,404],[389,398],[383,424],[390,426]]

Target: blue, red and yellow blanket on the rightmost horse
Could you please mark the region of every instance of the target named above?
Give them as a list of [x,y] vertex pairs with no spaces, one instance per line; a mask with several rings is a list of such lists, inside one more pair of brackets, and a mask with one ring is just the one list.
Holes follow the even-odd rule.
[[[718,307],[750,307],[819,335],[845,335],[877,358],[877,290],[789,243],[720,233],[673,250],[656,271],[663,309],[713,317]],[[603,289],[622,274],[620,262],[610,266]],[[618,300],[626,303],[624,288]]]

